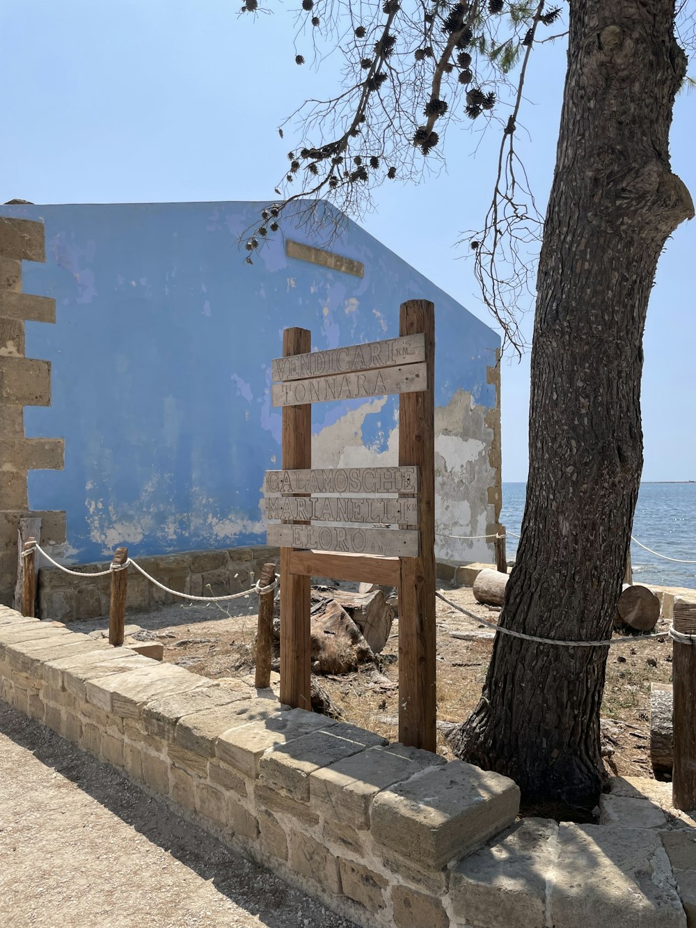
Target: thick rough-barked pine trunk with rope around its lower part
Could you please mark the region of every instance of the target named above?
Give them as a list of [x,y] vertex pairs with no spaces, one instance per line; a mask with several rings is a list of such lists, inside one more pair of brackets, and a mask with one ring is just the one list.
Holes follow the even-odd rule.
[[[693,215],[669,167],[686,57],[674,0],[574,0],[539,260],[522,539],[500,624],[606,639],[642,468],[642,336],[660,251]],[[483,698],[450,739],[527,801],[595,805],[606,647],[498,635]]]

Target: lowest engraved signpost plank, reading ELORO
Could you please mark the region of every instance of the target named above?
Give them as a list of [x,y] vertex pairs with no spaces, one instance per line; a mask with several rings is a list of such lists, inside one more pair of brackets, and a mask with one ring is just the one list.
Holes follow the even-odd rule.
[[332,525],[269,525],[267,544],[279,548],[314,548],[354,554],[417,558],[419,533],[389,528]]

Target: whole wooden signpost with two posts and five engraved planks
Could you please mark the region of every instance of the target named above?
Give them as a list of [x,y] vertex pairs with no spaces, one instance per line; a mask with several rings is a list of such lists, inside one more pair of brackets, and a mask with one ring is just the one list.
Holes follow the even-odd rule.
[[[311,708],[313,575],[397,586],[399,741],[434,751],[434,307],[403,303],[399,338],[310,348],[307,329],[285,329],[272,364],[283,470],[266,472],[264,506],[280,548],[280,701]],[[402,394],[398,467],[313,470],[312,403],[384,393]]]

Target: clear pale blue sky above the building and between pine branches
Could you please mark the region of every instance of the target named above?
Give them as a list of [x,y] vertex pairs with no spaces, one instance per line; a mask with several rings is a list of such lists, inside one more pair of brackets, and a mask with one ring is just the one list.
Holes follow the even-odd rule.
[[[256,22],[241,0],[4,0],[0,7],[3,144],[0,202],[265,200],[291,134],[277,125],[306,97],[335,86],[336,57],[294,64],[292,8]],[[298,46],[310,58],[310,50]],[[521,135],[537,200],[548,194],[561,103],[563,44],[533,56]],[[696,193],[696,97],[677,101],[673,167]],[[490,199],[493,134],[446,137],[447,169],[419,187],[377,192],[369,232],[488,321],[458,233]],[[696,479],[692,427],[696,223],[668,242],[645,338],[645,480]],[[251,269],[250,269],[251,270]],[[524,323],[531,331],[531,317]],[[527,468],[529,362],[504,362],[503,477]]]

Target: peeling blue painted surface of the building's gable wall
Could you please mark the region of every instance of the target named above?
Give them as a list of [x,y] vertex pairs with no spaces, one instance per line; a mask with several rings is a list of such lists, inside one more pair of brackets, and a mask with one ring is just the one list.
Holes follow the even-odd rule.
[[[32,471],[29,498],[67,510],[70,560],[264,542],[263,474],[280,466],[270,361],[286,326],[311,329],[313,349],[373,341],[398,335],[399,303],[432,300],[436,404],[459,388],[495,404],[497,335],[353,222],[332,248],[365,264],[362,279],[287,258],[279,237],[244,264],[238,237],[261,205],[1,208],[45,222],[46,262],[24,263],[23,290],[56,299],[55,326],[26,326],[53,399],[25,410],[25,431],[64,437],[65,470]],[[383,446],[396,402],[366,416],[368,445]],[[350,406],[314,406],[314,431]]]

